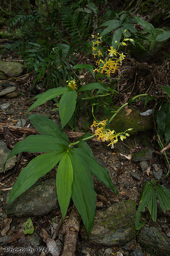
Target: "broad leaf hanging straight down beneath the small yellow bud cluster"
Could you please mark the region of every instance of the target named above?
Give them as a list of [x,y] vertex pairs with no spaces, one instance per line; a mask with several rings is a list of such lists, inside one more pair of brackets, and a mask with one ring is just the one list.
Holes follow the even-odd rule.
[[63,93],[59,102],[59,116],[61,119],[62,128],[71,119],[74,113],[77,102],[77,92],[76,90],[68,90]]

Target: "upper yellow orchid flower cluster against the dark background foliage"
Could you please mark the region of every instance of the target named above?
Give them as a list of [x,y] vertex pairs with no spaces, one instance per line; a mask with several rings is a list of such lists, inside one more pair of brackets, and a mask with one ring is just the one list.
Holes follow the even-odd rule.
[[[124,30],[124,35],[127,29]],[[98,68],[96,68],[94,70],[102,73],[102,74],[106,74],[108,77],[111,76],[111,73],[115,73],[116,70],[119,70],[120,65],[122,65],[122,60],[125,59],[126,55],[122,53],[118,52],[118,49],[121,45],[123,46],[127,46],[127,44],[125,43],[125,41],[133,41],[133,39],[131,38],[126,38],[127,35],[125,35],[123,41],[118,44],[117,41],[115,41],[115,43],[117,43],[118,47],[117,49],[113,49],[113,47],[111,46],[110,49],[108,49],[108,55],[112,58],[109,59],[105,59],[104,61],[100,58],[99,56],[103,56],[101,50],[99,49],[99,44],[102,42],[102,36],[99,37],[99,33],[97,34],[97,36],[95,35],[91,35],[92,38],[96,38],[95,41],[93,42],[93,55],[94,58],[96,58],[96,56],[98,55],[98,60],[96,61],[96,65],[98,65]],[[117,55],[119,55],[119,58],[116,58]]]

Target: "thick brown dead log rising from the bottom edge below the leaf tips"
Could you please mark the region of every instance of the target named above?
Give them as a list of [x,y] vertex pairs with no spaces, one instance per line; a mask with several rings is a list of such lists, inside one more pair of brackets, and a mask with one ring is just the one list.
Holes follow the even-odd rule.
[[80,229],[81,216],[73,205],[70,218],[63,225],[62,235],[65,236],[64,248],[61,256],[75,256],[77,236]]

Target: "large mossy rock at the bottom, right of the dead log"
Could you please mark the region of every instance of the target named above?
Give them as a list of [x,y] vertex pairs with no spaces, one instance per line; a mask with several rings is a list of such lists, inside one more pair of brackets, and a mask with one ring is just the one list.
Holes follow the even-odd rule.
[[[132,200],[113,204],[104,211],[97,212],[89,240],[104,245],[126,244],[136,236],[135,214],[136,205]],[[87,238],[85,227],[80,234]]]

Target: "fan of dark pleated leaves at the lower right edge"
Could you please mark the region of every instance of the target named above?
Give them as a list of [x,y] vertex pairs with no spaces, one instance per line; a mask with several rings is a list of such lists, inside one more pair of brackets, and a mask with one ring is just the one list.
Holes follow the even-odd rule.
[[[155,191],[156,187],[156,191]],[[160,207],[163,212],[170,209],[170,190],[165,188],[164,186],[156,184],[156,182],[150,183],[147,181],[144,183],[141,192],[141,198],[139,202],[139,207],[136,211],[135,217],[135,227],[136,229],[140,229],[145,224],[145,221],[140,222],[141,212],[145,211],[147,208],[150,212],[151,218],[153,221],[156,221],[157,216],[157,202],[156,202],[156,194],[158,197],[158,201]]]

